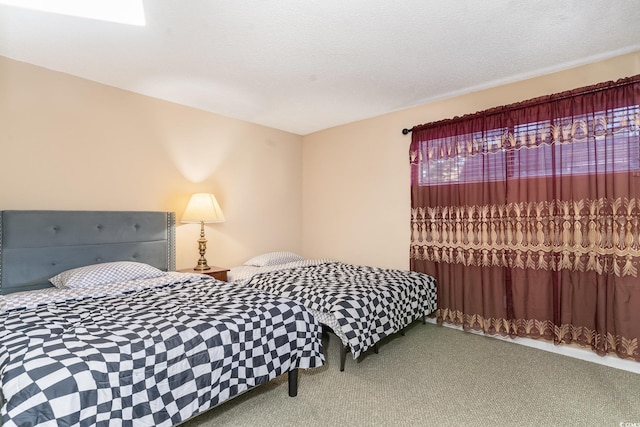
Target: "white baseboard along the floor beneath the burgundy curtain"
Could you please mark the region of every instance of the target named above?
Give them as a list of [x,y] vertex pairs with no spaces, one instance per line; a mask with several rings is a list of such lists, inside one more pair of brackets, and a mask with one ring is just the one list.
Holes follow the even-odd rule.
[[[427,322],[436,324],[436,319],[427,318]],[[443,326],[452,329],[458,329],[462,331],[462,327],[456,325],[450,325],[443,323]],[[600,365],[609,366],[611,368],[622,369],[624,371],[633,372],[636,374],[640,374],[640,362],[636,362],[635,360],[630,359],[621,359],[617,356],[598,356],[591,350],[573,347],[571,345],[555,345],[548,341],[543,340],[534,340],[531,338],[505,338],[500,335],[487,335],[480,331],[470,330],[468,332],[490,337],[496,338],[502,341],[506,341],[513,344],[524,345],[527,347],[537,348],[539,350],[549,351],[551,353],[561,354],[563,356],[573,357],[575,359],[585,360],[587,362],[593,362]]]

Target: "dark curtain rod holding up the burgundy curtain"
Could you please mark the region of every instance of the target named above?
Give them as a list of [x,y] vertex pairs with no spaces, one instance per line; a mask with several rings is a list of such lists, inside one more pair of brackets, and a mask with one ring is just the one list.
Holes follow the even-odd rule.
[[455,122],[455,121],[466,120],[470,116],[475,116],[476,114],[493,113],[493,112],[500,111],[500,110],[502,110],[502,111],[508,110],[510,108],[530,107],[530,106],[533,106],[533,105],[542,104],[544,102],[560,101],[560,100],[571,98],[571,97],[574,97],[574,96],[588,95],[590,93],[601,92],[603,90],[614,89],[614,88],[617,88],[617,87],[620,87],[620,86],[626,86],[626,85],[631,85],[631,84],[636,84],[636,83],[640,83],[640,74],[637,74],[637,75],[631,76],[631,77],[623,77],[623,78],[618,79],[616,81],[608,81],[608,82],[596,83],[594,85],[585,86],[585,87],[577,88],[577,89],[571,89],[571,90],[567,90],[567,91],[563,91],[563,92],[558,92],[558,93],[554,93],[554,94],[551,94],[551,95],[542,95],[542,96],[539,96],[537,98],[532,98],[532,99],[529,99],[529,100],[526,100],[526,101],[514,102],[514,103],[509,104],[509,105],[493,107],[493,108],[489,108],[489,109],[484,110],[484,111],[478,111],[478,112],[475,112],[475,113],[465,114],[464,116],[456,116],[456,117],[451,118],[451,119],[444,119],[444,120],[439,120],[439,121],[436,121],[436,122],[426,123],[426,124],[422,124],[422,125],[415,125],[411,129],[407,129],[407,128],[402,129],[402,134],[406,135],[406,134],[412,132],[413,129],[415,129],[416,127],[423,127],[423,126],[426,127],[426,126],[429,126],[429,125],[436,125],[436,124],[439,124],[439,123],[442,123],[442,122],[451,123],[451,122]]

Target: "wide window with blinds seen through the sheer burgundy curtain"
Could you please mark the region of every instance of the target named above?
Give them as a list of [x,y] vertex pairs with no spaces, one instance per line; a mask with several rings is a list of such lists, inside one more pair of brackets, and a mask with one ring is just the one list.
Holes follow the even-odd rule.
[[420,185],[640,171],[640,106],[422,141],[419,147]]

